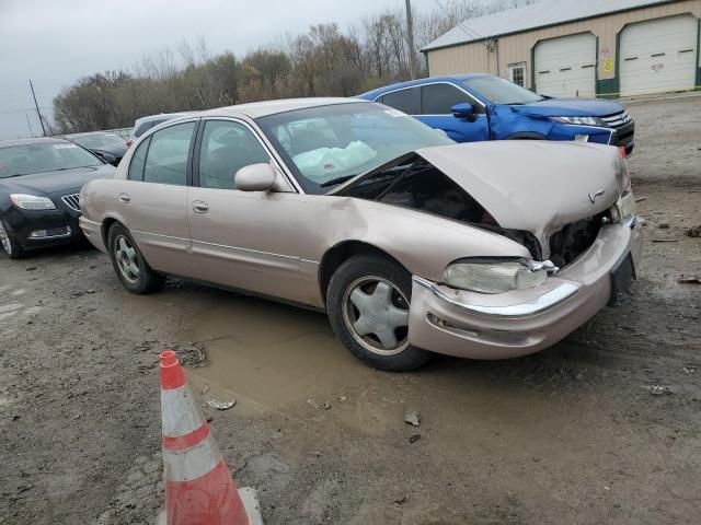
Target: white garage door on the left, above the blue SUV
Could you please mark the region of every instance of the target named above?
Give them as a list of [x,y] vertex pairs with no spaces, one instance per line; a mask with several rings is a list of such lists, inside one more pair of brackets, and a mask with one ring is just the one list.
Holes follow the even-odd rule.
[[595,96],[596,37],[590,33],[536,46],[536,91],[550,96]]

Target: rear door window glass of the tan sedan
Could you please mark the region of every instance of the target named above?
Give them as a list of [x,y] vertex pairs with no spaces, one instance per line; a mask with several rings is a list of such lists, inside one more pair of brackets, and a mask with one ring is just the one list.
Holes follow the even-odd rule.
[[187,154],[195,122],[184,122],[161,129],[151,136],[151,145],[143,167],[143,182],[187,184]]

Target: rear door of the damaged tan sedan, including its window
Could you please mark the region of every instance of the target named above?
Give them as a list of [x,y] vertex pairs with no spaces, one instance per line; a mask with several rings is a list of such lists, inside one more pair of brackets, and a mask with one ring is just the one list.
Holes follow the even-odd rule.
[[187,184],[197,119],[160,129],[137,147],[118,196],[126,226],[157,270],[189,275]]

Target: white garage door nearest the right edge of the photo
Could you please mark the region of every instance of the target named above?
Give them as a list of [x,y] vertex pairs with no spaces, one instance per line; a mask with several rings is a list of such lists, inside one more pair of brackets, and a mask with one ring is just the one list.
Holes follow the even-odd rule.
[[693,88],[697,33],[691,15],[629,25],[621,33],[621,94]]

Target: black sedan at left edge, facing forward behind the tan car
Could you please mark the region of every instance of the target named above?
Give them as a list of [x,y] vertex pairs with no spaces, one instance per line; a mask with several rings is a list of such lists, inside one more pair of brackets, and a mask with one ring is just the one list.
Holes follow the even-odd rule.
[[62,139],[0,141],[0,245],[11,259],[82,238],[79,194],[115,168]]

